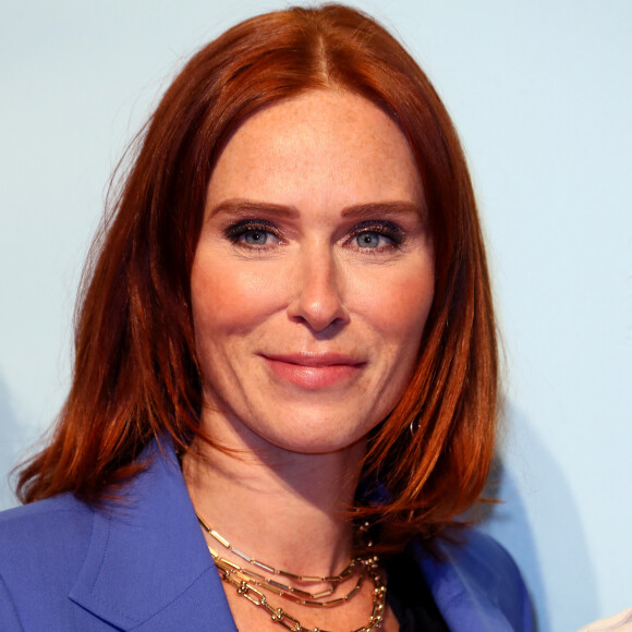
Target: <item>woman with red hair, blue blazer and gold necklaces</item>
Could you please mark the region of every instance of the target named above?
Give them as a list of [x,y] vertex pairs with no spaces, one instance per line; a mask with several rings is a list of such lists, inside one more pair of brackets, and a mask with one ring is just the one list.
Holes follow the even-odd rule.
[[512,560],[458,521],[497,399],[467,169],[370,19],[271,13],[189,62],[75,348],[0,522],[2,630],[532,629]]

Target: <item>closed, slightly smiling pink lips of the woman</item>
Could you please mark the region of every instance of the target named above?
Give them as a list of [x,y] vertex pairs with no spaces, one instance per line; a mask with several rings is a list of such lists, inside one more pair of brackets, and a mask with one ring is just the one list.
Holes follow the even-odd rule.
[[308,390],[350,380],[366,364],[339,353],[290,353],[263,357],[277,377]]

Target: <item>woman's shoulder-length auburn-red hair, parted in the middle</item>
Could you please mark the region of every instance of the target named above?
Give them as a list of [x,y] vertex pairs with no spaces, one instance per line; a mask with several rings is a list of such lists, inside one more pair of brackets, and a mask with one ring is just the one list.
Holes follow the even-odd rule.
[[[364,96],[416,160],[436,285],[412,381],[374,433],[364,472],[388,490],[384,546],[432,538],[479,496],[494,452],[497,351],[485,252],[465,159],[429,81],[361,12],[294,8],[208,44],[168,88],[93,246],[75,314],[72,387],[48,446],[20,473],[31,502],[94,502],[134,475],[153,438],[198,433],[200,377],[190,275],[206,189],[231,133],[311,89]],[[409,427],[414,432],[411,434]]]

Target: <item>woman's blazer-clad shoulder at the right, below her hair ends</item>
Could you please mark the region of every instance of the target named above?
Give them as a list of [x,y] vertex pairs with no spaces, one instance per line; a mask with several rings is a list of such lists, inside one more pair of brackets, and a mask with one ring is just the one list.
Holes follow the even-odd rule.
[[513,558],[476,530],[448,533],[438,557],[420,547],[420,563],[451,630],[534,630],[531,600]]

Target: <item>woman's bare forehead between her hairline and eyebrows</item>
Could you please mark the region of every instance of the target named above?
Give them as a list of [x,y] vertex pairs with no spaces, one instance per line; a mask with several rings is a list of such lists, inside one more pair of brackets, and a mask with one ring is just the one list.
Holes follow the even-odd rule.
[[347,196],[354,204],[422,197],[416,165],[397,124],[363,97],[325,90],[247,119],[221,153],[208,190],[210,202],[279,194],[338,202]]

